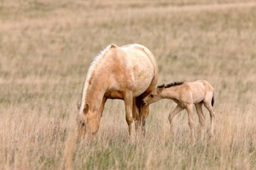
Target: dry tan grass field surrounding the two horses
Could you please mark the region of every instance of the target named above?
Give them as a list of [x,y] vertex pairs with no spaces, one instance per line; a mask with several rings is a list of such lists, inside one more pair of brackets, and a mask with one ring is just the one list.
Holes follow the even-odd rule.
[[[256,169],[256,2],[0,0],[0,169]],[[215,88],[215,139],[189,140],[187,113],[150,105],[146,138],[129,140],[123,101],[76,144],[76,103],[90,62],[108,44],[138,43],[158,84]],[[194,110],[195,111],[195,110]]]

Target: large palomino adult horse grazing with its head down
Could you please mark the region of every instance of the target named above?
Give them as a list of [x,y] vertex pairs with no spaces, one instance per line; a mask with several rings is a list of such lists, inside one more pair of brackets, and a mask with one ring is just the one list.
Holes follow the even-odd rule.
[[107,99],[125,101],[130,136],[133,120],[136,131],[142,128],[145,134],[149,107],[141,101],[154,89],[157,80],[156,58],[148,48],[140,44],[107,46],[94,58],[84,81],[77,116],[78,139],[98,131]]

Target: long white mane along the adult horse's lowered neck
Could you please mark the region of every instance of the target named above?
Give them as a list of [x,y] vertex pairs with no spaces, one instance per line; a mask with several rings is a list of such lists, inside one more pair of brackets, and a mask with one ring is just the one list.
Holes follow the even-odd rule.
[[80,104],[80,107],[79,107],[79,115],[82,115],[83,112],[84,112],[84,105],[86,103],[86,92],[87,92],[87,88],[88,88],[88,84],[89,84],[88,81],[92,77],[92,72],[94,71],[98,61],[102,58],[102,56],[105,54],[106,50],[108,50],[108,48],[111,45],[112,44],[108,45],[97,56],[95,56],[94,59],[92,60],[91,64],[90,64],[90,67],[89,67],[87,75],[86,75],[86,80],[84,81],[84,87],[83,87],[82,97],[81,97],[81,104]]

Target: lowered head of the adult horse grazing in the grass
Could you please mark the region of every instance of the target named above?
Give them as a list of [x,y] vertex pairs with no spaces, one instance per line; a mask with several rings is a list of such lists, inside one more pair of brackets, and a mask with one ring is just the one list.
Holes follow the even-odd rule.
[[84,136],[86,133],[95,134],[100,126],[98,112],[92,111],[88,103],[84,105],[84,108],[80,107],[83,106],[77,104],[78,110],[82,109],[82,112],[79,112],[77,116],[78,135]]

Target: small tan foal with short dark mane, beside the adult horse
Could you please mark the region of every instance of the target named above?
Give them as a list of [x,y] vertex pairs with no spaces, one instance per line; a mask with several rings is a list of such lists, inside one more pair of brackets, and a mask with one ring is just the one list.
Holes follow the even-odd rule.
[[202,110],[202,104],[210,112],[211,128],[210,137],[214,135],[214,118],[215,112],[212,108],[214,106],[214,88],[210,83],[204,80],[194,82],[174,82],[168,85],[160,85],[155,88],[148,96],[146,96],[142,103],[149,105],[160,99],[172,99],[177,103],[176,108],[169,114],[170,129],[172,130],[172,118],[181,112],[184,108],[187,110],[189,118],[189,128],[191,129],[191,139],[195,141],[195,132],[193,127],[193,104],[197,110],[199,117],[199,124],[201,126],[201,140],[203,140],[205,116]]

